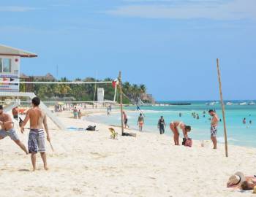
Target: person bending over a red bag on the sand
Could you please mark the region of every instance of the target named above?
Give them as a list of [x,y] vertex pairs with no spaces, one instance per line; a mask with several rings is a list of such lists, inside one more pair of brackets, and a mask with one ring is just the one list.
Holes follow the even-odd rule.
[[176,146],[179,146],[179,132],[178,130],[181,129],[184,135],[184,139],[188,139],[188,132],[191,131],[191,126],[185,125],[181,121],[173,121],[170,123],[170,130],[173,131],[173,139],[174,139],[174,144]]

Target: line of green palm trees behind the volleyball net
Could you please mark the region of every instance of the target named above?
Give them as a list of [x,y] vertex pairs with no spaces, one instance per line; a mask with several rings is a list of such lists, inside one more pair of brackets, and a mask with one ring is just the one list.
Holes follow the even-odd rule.
[[[30,79],[37,82],[37,79]],[[40,82],[50,82],[50,80],[39,80]],[[106,78],[104,80],[96,80],[93,77],[87,77],[84,80],[75,79],[76,82],[104,82],[113,81],[113,79]],[[52,81],[53,82],[53,81]],[[71,82],[67,77],[56,80],[55,82]],[[103,83],[96,85],[96,93],[94,84],[20,84],[21,92],[34,92],[44,101],[52,101],[53,99],[64,100],[65,98],[72,98],[74,101],[97,101],[97,88],[104,88],[105,100],[113,101],[115,88],[110,83]],[[124,96],[124,104],[133,104],[138,102],[140,96],[146,93],[146,85],[130,84],[129,82],[122,83]],[[118,101],[118,96],[117,96]]]

